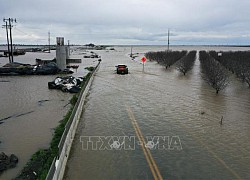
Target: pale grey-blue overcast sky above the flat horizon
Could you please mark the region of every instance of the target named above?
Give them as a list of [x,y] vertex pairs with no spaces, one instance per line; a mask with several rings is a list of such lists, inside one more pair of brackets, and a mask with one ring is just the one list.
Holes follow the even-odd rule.
[[[0,0],[16,18],[13,42],[48,44],[249,45],[250,0]],[[2,21],[2,25],[4,22]],[[0,29],[0,44],[6,31]]]

